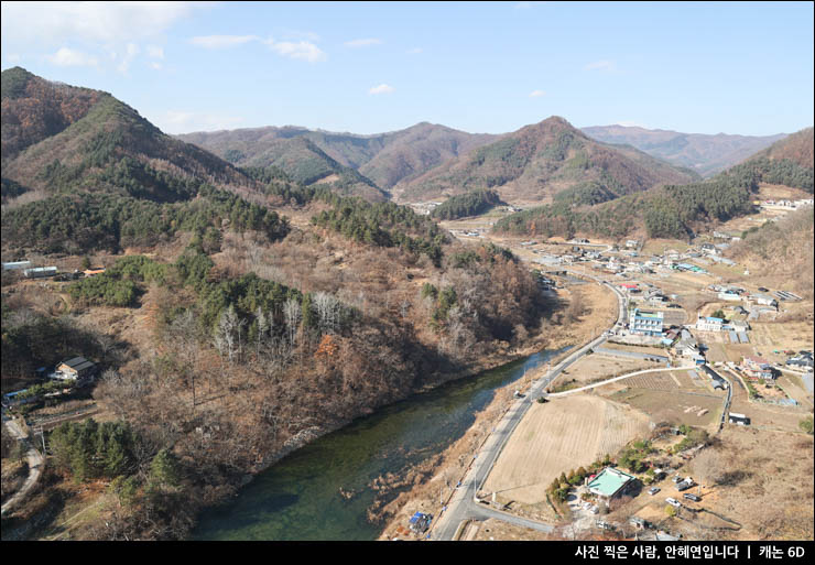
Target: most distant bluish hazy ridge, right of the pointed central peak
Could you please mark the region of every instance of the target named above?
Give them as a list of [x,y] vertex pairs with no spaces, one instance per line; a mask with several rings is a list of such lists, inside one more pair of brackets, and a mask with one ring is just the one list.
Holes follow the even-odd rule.
[[664,159],[676,166],[710,176],[740,163],[749,155],[784,138],[776,135],[728,135],[717,133],[682,133],[649,130],[628,126],[594,126],[583,128],[588,137],[604,143],[631,145],[649,155]]

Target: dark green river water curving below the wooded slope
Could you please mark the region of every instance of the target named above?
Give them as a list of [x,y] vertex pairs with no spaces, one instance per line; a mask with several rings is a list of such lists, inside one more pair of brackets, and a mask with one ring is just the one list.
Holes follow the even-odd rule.
[[[227,504],[202,514],[195,540],[376,540],[366,511],[376,477],[404,474],[461,437],[509,384],[561,351],[543,351],[414,394],[290,454]],[[345,499],[339,489],[356,495]],[[395,497],[398,492],[394,492]]]

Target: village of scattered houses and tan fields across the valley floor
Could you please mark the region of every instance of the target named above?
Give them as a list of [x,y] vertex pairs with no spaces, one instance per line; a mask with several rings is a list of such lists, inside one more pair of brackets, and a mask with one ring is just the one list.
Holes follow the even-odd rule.
[[[812,200],[757,205],[773,221]],[[737,501],[749,499],[750,481],[731,477],[760,475],[735,467],[770,445],[796,458],[795,437],[811,433],[812,297],[757,282],[764,273],[728,258],[737,230],[691,243],[513,240],[490,233],[497,215],[443,224],[464,241],[510,247],[539,272],[544,292],[574,297],[593,281],[613,285],[624,316],[557,377],[547,377],[552,367],[532,377],[548,382],[543,394],[530,395],[529,383],[515,391],[511,402],[529,408],[474,495],[490,513],[471,511],[453,539],[754,536],[748,504]],[[791,499],[797,471],[790,464],[775,478],[775,500]],[[412,535],[446,531],[428,517],[413,514]]]

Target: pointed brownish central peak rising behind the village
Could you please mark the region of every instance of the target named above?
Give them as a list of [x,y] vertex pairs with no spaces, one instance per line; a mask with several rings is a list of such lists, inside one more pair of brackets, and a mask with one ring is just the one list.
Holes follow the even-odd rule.
[[508,202],[551,202],[564,191],[611,199],[698,178],[632,148],[594,141],[559,117],[526,126],[393,188],[405,202],[493,188]]

